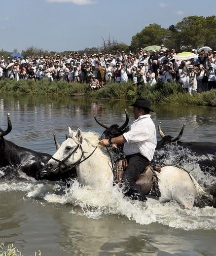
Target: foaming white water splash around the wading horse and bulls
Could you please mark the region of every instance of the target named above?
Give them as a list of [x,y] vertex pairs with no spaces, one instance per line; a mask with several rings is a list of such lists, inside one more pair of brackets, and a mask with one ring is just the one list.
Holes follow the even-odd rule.
[[[184,157],[185,155],[187,158]],[[174,146],[164,163],[185,168],[204,189],[206,184],[216,182],[215,176],[206,175],[201,171],[196,163],[196,157],[186,149],[182,151]],[[119,215],[141,225],[160,223],[183,230],[216,230],[216,209],[212,207],[202,209],[193,207],[188,210],[176,202],[150,204],[148,201],[131,201],[123,197],[118,186],[92,189],[90,186],[81,186],[73,180],[71,186],[66,187],[61,182],[37,182],[22,174],[19,179],[0,181],[0,191],[10,190],[24,191],[26,197],[39,198],[50,203],[70,204],[72,215],[91,219]]]

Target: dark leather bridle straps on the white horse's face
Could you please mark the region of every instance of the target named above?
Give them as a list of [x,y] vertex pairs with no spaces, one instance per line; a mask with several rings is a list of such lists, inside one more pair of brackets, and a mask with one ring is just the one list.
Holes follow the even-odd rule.
[[94,154],[95,150],[96,150],[97,147],[98,147],[98,146],[96,146],[95,149],[91,152],[90,155],[88,155],[86,158],[84,158],[83,160],[81,160],[82,157],[83,157],[83,155],[84,155],[84,153],[87,153],[87,152],[85,152],[85,151],[83,150],[81,143],[80,143],[77,139],[75,139],[73,136],[70,136],[69,138],[72,139],[72,140],[77,144],[77,146],[72,150],[72,152],[71,152],[68,156],[66,156],[64,159],[62,159],[62,160],[58,160],[58,159],[56,159],[55,157],[51,156],[51,158],[52,158],[53,160],[55,160],[56,162],[58,162],[58,168],[59,168],[60,172],[62,172],[62,167],[61,167],[61,165],[64,164],[64,163],[66,162],[66,160],[68,160],[68,159],[72,156],[73,153],[76,153],[76,150],[77,150],[79,147],[80,147],[80,149],[81,149],[81,156],[80,156],[80,158],[79,158],[75,163],[72,164],[72,166],[71,166],[69,169],[67,169],[67,171],[71,170],[72,168],[76,167],[77,165],[79,165],[79,164],[83,163],[85,160],[87,160],[90,156],[92,156],[92,155]]

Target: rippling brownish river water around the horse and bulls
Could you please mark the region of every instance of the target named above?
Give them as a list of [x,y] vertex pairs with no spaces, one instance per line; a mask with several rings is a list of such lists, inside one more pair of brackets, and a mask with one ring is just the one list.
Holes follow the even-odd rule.
[[[6,139],[19,146],[53,154],[52,134],[65,140],[68,126],[73,130],[103,128],[94,120],[123,124],[124,109],[130,122],[132,107],[126,101],[58,99],[0,96],[0,128],[11,115],[12,131]],[[181,141],[216,142],[216,108],[152,106],[152,119],[165,134],[177,136],[183,123]],[[158,135],[158,139],[159,135]],[[189,154],[189,153],[188,153]],[[178,163],[170,154],[168,163]],[[202,173],[191,155],[183,163],[201,185],[216,182]],[[117,188],[104,193],[80,187],[75,181],[63,190],[58,182],[37,182],[21,174],[0,180],[0,242],[13,243],[26,255],[42,256],[215,256],[216,209],[194,207],[186,210],[175,202],[150,205],[123,198]]]

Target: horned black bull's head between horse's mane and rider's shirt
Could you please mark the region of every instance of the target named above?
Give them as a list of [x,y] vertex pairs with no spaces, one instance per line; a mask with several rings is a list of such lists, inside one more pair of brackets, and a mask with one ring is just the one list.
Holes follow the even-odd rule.
[[125,111],[126,114],[126,120],[123,125],[119,126],[118,124],[112,124],[108,127],[105,123],[101,123],[97,120],[96,116],[94,116],[95,121],[100,124],[102,127],[104,127],[106,130],[103,132],[102,136],[99,138],[99,140],[102,139],[109,139],[109,138],[114,138],[122,135],[124,132],[128,130],[128,123],[129,123],[129,117],[128,114]]

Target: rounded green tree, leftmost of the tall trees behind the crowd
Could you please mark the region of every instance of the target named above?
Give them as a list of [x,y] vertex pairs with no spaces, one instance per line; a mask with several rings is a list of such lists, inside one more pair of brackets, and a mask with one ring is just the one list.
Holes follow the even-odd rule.
[[149,24],[140,33],[132,37],[131,49],[137,51],[138,48],[144,48],[148,45],[160,45],[164,42],[167,30],[161,28],[158,24]]

